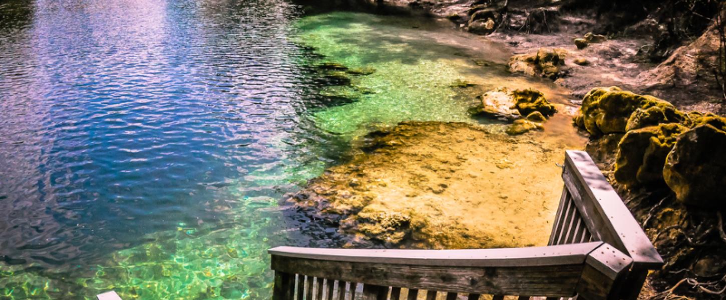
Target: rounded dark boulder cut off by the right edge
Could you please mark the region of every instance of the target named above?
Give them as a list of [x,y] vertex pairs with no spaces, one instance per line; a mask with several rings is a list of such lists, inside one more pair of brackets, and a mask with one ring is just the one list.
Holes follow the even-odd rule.
[[[726,123],[725,118],[717,116],[709,117],[709,121]],[[706,122],[688,130],[675,143],[663,175],[678,201],[700,207],[726,207],[725,129]]]

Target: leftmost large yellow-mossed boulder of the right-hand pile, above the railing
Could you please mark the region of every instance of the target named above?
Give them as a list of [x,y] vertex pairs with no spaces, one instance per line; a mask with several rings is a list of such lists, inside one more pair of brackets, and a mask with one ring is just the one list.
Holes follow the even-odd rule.
[[[587,130],[592,136],[625,133],[631,114],[637,109],[649,109],[650,107],[665,108],[672,107],[672,104],[653,96],[623,91],[616,86],[593,88],[582,99],[582,107],[579,109],[582,120],[577,120],[578,117],[576,117],[574,121],[576,125]],[[645,118],[642,123],[648,123],[645,121],[650,122],[650,119]],[[636,124],[640,123],[640,121],[634,120],[633,127],[637,127]]]

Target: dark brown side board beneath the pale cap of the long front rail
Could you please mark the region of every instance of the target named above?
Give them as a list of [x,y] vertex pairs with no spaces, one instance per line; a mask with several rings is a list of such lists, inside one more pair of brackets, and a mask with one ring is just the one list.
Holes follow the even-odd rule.
[[[600,244],[594,243],[595,246]],[[309,276],[327,276],[376,286],[461,293],[574,296],[574,286],[579,281],[586,258],[582,257],[574,264],[541,267],[449,267],[340,262],[273,255],[272,269],[282,272],[304,270]]]

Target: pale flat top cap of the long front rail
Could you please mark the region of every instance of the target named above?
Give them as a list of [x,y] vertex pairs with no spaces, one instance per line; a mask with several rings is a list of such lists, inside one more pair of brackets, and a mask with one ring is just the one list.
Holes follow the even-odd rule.
[[[339,262],[371,262],[441,267],[534,267],[582,262],[600,243],[579,243],[528,248],[404,250],[404,249],[325,249],[277,247],[269,253],[277,257],[321,259]],[[305,272],[306,270],[299,270]]]

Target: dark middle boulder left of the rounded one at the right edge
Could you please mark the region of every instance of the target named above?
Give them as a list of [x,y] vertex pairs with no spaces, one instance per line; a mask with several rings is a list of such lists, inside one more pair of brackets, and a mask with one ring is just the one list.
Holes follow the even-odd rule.
[[618,143],[615,179],[628,187],[663,184],[666,156],[687,130],[669,123],[628,131]]

